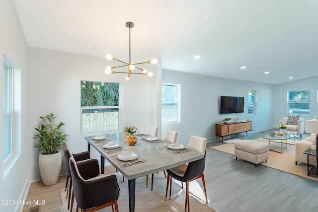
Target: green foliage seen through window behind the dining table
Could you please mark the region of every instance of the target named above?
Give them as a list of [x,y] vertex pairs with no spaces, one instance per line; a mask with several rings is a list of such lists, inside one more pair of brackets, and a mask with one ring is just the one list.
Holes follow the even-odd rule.
[[119,83],[80,81],[82,107],[119,105]]

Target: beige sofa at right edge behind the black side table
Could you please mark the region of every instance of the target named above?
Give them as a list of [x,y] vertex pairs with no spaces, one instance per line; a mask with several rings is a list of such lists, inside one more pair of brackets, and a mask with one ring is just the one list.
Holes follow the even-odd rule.
[[[311,134],[310,137],[302,141],[296,141],[295,144],[295,164],[297,162],[302,162],[307,164],[307,154],[304,151],[308,148],[316,149],[317,144],[317,134]],[[316,157],[309,155],[309,164],[316,165]]]

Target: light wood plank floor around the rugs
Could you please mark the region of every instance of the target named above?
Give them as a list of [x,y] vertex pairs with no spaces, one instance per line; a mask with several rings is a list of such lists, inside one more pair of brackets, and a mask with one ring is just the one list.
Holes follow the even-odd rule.
[[[253,133],[238,139],[257,139],[264,133]],[[277,131],[277,130],[276,130]],[[297,137],[300,141],[308,137]],[[210,149],[221,141],[207,144],[204,172],[209,205],[220,212],[315,212],[318,208],[318,182],[278,171],[266,166],[236,160],[234,155]],[[201,184],[201,180],[197,180]],[[31,184],[27,200],[46,200],[42,212],[60,212],[60,190],[65,188],[66,176],[53,186],[41,181]],[[162,194],[164,195],[164,194]],[[27,212],[24,207],[23,212]]]

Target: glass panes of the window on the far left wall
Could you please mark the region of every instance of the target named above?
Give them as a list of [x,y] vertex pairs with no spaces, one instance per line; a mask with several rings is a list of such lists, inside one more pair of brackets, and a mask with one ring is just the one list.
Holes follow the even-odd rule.
[[12,153],[13,70],[3,66],[3,161]]

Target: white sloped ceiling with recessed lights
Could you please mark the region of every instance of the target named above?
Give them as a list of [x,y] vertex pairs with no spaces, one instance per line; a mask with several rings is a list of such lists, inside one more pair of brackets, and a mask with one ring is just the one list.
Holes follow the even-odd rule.
[[[166,70],[271,84],[318,75],[318,0],[14,3],[30,47],[103,58],[111,54],[128,62],[125,23],[132,21],[132,63],[156,58]],[[119,65],[105,59],[105,68]]]

